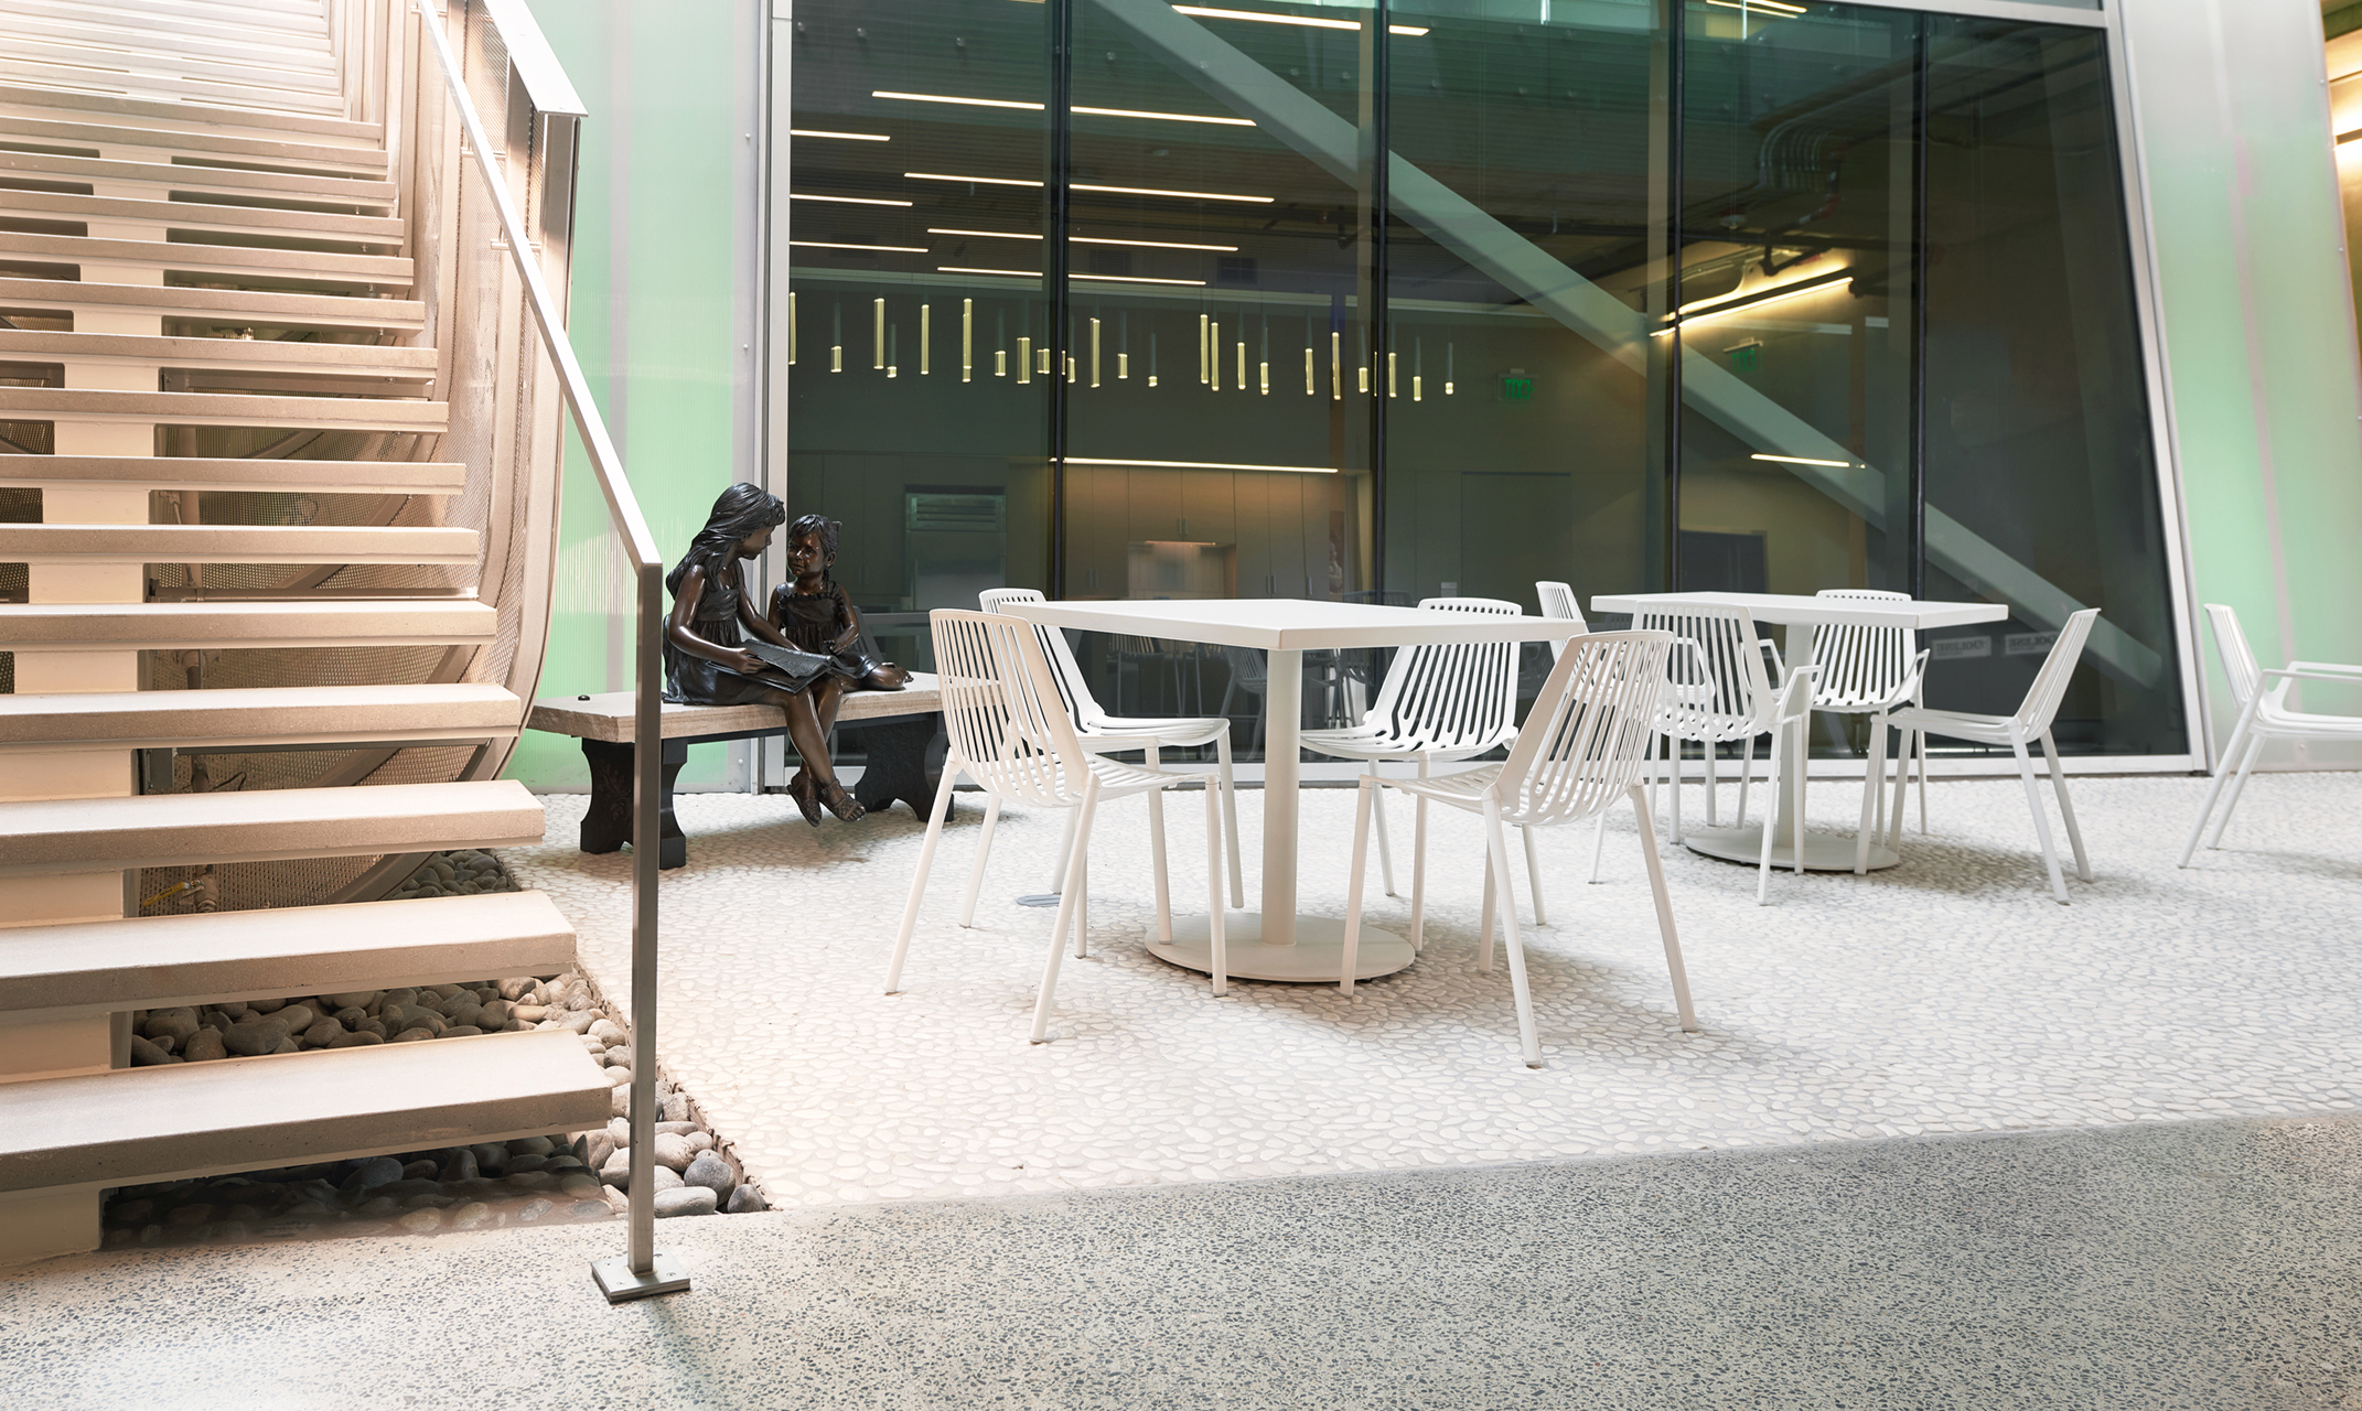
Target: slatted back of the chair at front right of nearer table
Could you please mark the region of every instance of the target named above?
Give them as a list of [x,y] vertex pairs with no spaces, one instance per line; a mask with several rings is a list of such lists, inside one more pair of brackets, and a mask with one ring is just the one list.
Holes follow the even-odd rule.
[[1590,819],[1639,779],[1672,632],[1592,632],[1566,647],[1502,764],[1505,823]]

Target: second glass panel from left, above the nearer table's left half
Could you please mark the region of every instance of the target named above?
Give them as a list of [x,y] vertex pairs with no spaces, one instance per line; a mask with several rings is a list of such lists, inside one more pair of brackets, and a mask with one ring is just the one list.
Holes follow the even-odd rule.
[[[1068,597],[1365,585],[1365,33],[1332,14],[1075,9]],[[1096,635],[1077,656],[1110,713],[1259,739],[1259,658]],[[1344,713],[1339,665],[1306,670],[1306,722]]]

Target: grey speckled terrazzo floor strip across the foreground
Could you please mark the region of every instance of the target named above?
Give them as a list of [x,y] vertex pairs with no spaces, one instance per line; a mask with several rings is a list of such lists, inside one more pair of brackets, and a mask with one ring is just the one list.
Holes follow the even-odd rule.
[[78,1255],[0,1404],[2315,1411],[2357,1196],[2237,1118],[668,1220],[624,1307],[612,1225]]

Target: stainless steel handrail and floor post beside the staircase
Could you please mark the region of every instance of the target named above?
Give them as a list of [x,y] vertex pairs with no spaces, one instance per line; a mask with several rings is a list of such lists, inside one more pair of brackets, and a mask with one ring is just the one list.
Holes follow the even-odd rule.
[[[484,189],[501,217],[501,234],[508,238],[508,255],[517,264],[524,283],[524,300],[541,328],[541,344],[557,366],[557,385],[565,392],[567,411],[574,413],[574,429],[581,432],[583,451],[590,453],[590,474],[607,496],[607,517],[624,538],[633,580],[640,590],[638,639],[633,661],[638,665],[633,701],[633,800],[631,800],[631,1248],[621,1258],[598,1260],[590,1269],[609,1302],[647,1298],[652,1293],[676,1293],[690,1281],[671,1260],[657,1255],[657,861],[661,800],[659,769],[664,760],[664,559],[657,557],[657,536],[647,531],[640,500],[624,479],[624,458],[616,455],[607,422],[590,399],[590,380],[583,378],[581,359],[565,330],[565,311],[550,295],[548,281],[534,257],[534,243],[524,229],[524,217],[508,191],[508,179],[494,163],[491,139],[484,120],[468,99],[468,80],[444,35],[444,17],[435,0],[413,0],[418,28],[425,31],[442,68],[444,87],[458,113],[468,151],[484,177]],[[546,50],[546,47],[543,47]],[[659,1267],[661,1260],[661,1267]]]

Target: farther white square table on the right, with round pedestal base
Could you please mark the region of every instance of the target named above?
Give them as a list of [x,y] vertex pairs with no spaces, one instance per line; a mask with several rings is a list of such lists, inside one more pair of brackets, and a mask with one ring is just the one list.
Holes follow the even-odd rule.
[[[1781,623],[1788,639],[1781,649],[1788,670],[1812,665],[1812,630],[1819,625],[1854,628],[1960,628],[1968,623],[1998,623],[2010,616],[2001,602],[1918,602],[1901,597],[1805,597],[1795,592],[1601,592],[1592,599],[1594,613],[1639,613],[1649,609],[1679,611],[1682,606],[1743,606],[1757,623]],[[1795,819],[1805,812],[1805,774],[1790,769],[1781,779],[1779,812],[1774,814],[1772,866],[1795,866]],[[1679,767],[1675,767],[1679,779]],[[1864,788],[1875,788],[1864,779]],[[1682,838],[1705,857],[1722,857],[1755,866],[1762,859],[1764,831],[1757,828],[1691,828]],[[1890,849],[1871,845],[1871,866],[1890,868],[1901,859]],[[1816,873],[1854,871],[1854,842],[1845,838],[1805,835],[1805,866]]]

